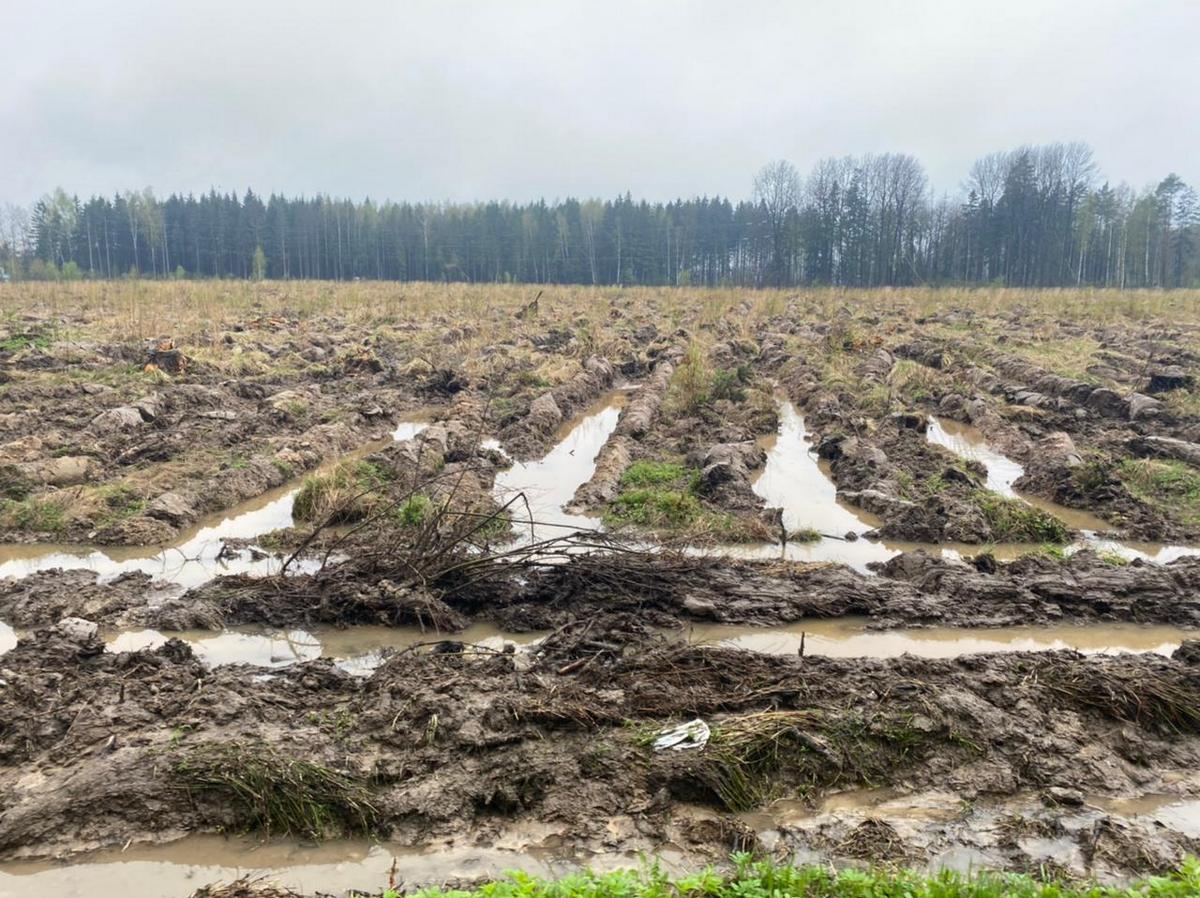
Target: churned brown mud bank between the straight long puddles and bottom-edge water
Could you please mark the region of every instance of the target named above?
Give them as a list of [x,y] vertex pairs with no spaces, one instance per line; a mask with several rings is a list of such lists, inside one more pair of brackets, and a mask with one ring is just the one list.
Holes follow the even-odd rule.
[[[194,759],[232,744],[338,771],[392,839],[470,842],[554,820],[564,849],[584,851],[665,838],[682,806],[732,821],[762,803],[760,786],[1117,797],[1172,777],[1194,788],[1200,766],[1187,704],[1200,678],[1182,655],[840,660],[641,645],[564,672],[587,657],[564,655],[571,646],[564,633],[532,657],[413,652],[366,678],[328,661],[250,677],[180,642],[108,654],[41,631],[5,659],[0,857],[244,826],[250,808],[188,785]],[[353,720],[353,750],[331,710]],[[640,738],[680,714],[767,740],[778,762],[731,767],[720,750],[655,753]],[[18,785],[31,764],[37,780]],[[731,791],[733,770],[749,791]],[[686,850],[725,851],[727,831],[701,827]]]

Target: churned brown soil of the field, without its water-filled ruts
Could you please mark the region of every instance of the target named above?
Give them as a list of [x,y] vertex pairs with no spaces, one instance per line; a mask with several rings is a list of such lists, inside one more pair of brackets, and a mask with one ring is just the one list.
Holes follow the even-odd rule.
[[[930,415],[972,425],[1024,467],[1021,496],[1098,515],[1109,535],[1200,540],[1189,328],[902,301],[748,298],[670,316],[653,300],[606,301],[588,318],[546,298],[544,317],[516,324],[499,307],[470,323],[264,316],[206,343],[178,340],[186,365],[161,341],[0,355],[6,540],[169,544],[203,514],[364,447],[378,478],[337,527],[276,535],[281,563],[296,552],[286,576],[187,591],[137,573],[0,581],[0,621],[23,631],[0,655],[0,858],[247,830],[468,844],[533,825],[584,856],[670,846],[707,862],[744,848],[908,863],[958,851],[1102,878],[1200,849],[1186,827],[1109,810],[1200,790],[1192,641],[1172,658],[836,659],[680,637],[701,623],[845,617],[1200,627],[1200,558],[998,562],[991,544],[1075,534],[1021,497],[997,502],[984,466],[925,433]],[[572,513],[599,520],[631,465],[664,462],[686,469],[706,520],[738,525],[724,535],[784,535],[752,489],[781,391],[839,498],[878,521],[872,535],[931,551],[865,574],[659,551],[680,535],[671,527],[541,551],[514,540],[496,520],[497,473],[545,456],[564,424],[624,385],[588,479],[556,485],[575,490]],[[394,443],[415,408],[431,409],[428,426]],[[946,543],[979,551],[937,557]],[[518,651],[455,639],[476,623],[550,635]],[[422,627],[430,639],[370,676],[329,660],[214,667],[178,640],[138,652],[102,640],[242,624]],[[654,750],[661,730],[695,717],[713,729],[706,748]],[[241,789],[250,777],[265,792]],[[937,832],[874,804],[826,814],[860,789],[972,810],[938,812]],[[310,830],[323,832],[247,794],[316,796]],[[804,820],[755,821],[780,800]]]

